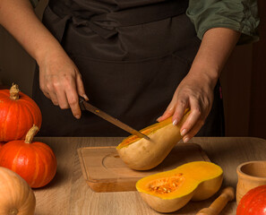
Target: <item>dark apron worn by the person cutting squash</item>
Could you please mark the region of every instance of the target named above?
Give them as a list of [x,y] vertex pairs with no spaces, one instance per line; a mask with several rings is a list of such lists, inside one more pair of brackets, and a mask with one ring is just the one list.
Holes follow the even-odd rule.
[[[188,73],[201,44],[185,15],[187,0],[50,0],[43,22],[82,73],[90,103],[140,130],[156,123]],[[39,90],[42,136],[127,136],[115,125],[52,104]],[[198,135],[224,134],[219,84]]]

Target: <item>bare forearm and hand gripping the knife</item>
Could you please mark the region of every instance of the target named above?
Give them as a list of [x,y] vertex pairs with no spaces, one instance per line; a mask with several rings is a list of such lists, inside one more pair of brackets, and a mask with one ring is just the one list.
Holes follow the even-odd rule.
[[79,95],[88,99],[81,73],[63,47],[34,13],[30,1],[0,1],[0,24],[39,64],[40,89],[61,107],[70,107],[73,116],[81,117]]

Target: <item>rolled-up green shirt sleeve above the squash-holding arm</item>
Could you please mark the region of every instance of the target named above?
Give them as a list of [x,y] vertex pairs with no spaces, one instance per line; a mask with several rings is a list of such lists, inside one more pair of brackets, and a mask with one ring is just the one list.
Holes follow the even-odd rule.
[[219,27],[241,32],[237,44],[259,39],[256,0],[190,0],[186,14],[200,39],[207,30]]

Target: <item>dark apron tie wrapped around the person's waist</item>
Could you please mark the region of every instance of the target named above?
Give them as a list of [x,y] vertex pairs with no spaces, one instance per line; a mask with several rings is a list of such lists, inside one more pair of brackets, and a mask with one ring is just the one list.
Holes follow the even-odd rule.
[[[165,1],[157,4],[148,4],[128,8],[121,11],[91,14],[88,11],[72,10],[72,7],[60,3],[59,0],[50,1],[51,10],[59,17],[73,22],[76,27],[86,26],[104,39],[109,39],[117,34],[117,27],[139,25],[148,22],[156,22],[169,17],[185,13],[188,0]],[[62,6],[64,8],[62,8]],[[59,37],[62,39],[62,35]]]

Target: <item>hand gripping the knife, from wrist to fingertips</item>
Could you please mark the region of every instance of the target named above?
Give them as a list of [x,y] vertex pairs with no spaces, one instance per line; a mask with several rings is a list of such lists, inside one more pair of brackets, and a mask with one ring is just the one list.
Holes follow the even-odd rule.
[[[61,48],[60,48],[61,49]],[[73,116],[82,115],[79,96],[88,100],[82,75],[64,50],[54,50],[41,58],[39,64],[39,86],[53,104],[62,109],[71,108]]]

